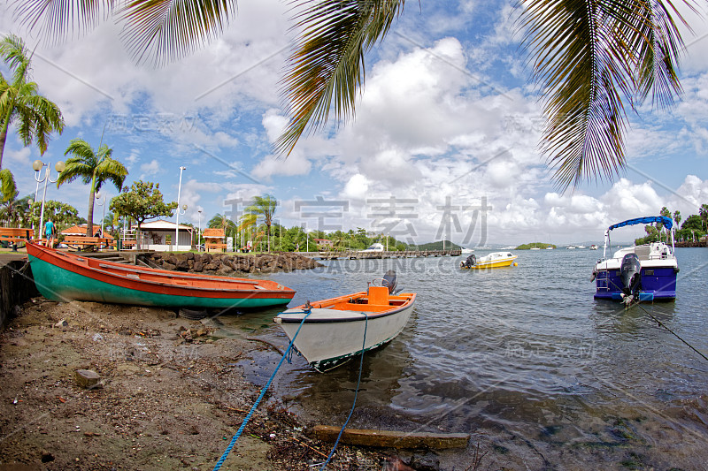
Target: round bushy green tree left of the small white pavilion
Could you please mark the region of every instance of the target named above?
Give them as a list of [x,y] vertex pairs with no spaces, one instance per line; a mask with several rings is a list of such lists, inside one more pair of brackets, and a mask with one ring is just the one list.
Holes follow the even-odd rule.
[[177,202],[172,201],[165,204],[159,187],[159,183],[135,181],[129,191],[124,188],[123,193],[111,200],[109,208],[114,213],[131,217],[137,221],[138,229],[147,219],[160,216],[172,217],[173,209],[177,208]]

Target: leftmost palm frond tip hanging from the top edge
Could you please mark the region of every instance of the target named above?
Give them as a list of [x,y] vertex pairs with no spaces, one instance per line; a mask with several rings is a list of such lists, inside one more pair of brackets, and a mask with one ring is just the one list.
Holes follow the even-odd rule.
[[12,4],[21,26],[58,42],[91,31],[112,13],[118,0],[12,0]]

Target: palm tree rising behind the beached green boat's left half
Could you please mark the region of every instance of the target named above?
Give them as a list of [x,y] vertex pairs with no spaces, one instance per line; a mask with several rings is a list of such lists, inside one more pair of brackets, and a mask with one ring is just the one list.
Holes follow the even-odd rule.
[[123,181],[127,176],[127,168],[119,161],[112,158],[113,149],[107,145],[98,147],[94,151],[87,141],[73,139],[66,148],[65,156],[71,154],[73,157],[66,159],[66,168],[59,173],[57,187],[64,183],[72,182],[81,177],[81,180],[90,186],[89,190],[89,224],[86,226],[86,235],[91,237],[94,229],[94,201],[96,192],[101,189],[106,181],[120,190]]

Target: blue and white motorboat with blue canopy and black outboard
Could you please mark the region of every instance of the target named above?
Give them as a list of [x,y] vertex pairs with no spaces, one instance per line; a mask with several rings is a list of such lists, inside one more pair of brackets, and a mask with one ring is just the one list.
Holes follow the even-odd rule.
[[[612,250],[610,232],[635,224],[658,224],[660,228],[666,229],[666,241],[620,248],[612,257],[607,258],[608,248]],[[668,244],[669,234],[671,245]],[[593,270],[595,298],[622,300],[627,305],[638,301],[673,300],[676,297],[678,272],[673,221],[670,217],[636,217],[612,224],[604,232],[603,258],[596,262]]]

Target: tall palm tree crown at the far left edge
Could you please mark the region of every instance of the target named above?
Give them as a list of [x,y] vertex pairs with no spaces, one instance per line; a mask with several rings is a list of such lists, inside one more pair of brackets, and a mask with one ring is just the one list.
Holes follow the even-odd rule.
[[37,92],[37,84],[30,80],[30,62],[25,42],[14,34],[0,41],[0,57],[12,71],[8,80],[0,73],[0,169],[7,131],[17,122],[19,137],[25,146],[36,141],[40,154],[47,150],[50,133],[64,131],[64,118],[59,107]]

